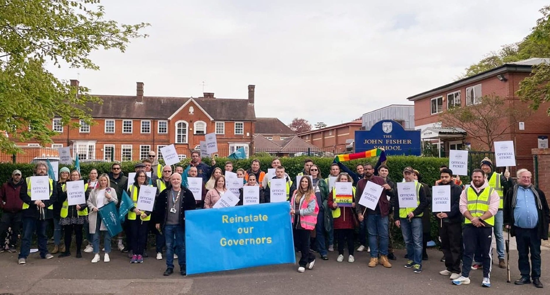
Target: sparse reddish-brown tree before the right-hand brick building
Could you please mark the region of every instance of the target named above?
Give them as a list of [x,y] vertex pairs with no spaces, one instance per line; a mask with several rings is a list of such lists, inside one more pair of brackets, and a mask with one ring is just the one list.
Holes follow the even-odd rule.
[[490,151],[494,141],[528,115],[528,109],[507,106],[500,97],[486,95],[478,104],[454,107],[439,117],[442,126],[464,129],[469,137],[481,143],[477,148]]

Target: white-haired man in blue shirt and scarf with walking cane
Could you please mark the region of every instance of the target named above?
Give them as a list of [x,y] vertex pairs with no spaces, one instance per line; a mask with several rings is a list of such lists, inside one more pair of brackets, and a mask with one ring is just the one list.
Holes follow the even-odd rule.
[[518,268],[521,278],[514,283],[525,285],[531,283],[531,278],[535,287],[542,288],[541,239],[548,240],[550,211],[544,192],[531,184],[531,172],[519,169],[517,175],[518,184],[508,190],[504,198],[503,212],[504,225],[509,230],[509,235],[516,237],[518,245]]

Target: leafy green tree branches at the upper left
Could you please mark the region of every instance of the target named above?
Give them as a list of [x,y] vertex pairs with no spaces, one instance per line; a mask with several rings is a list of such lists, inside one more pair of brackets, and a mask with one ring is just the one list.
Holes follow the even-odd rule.
[[[86,87],[71,87],[46,70],[58,67],[98,70],[89,58],[97,49],[127,47],[130,39],[149,26],[105,20],[100,0],[10,0],[0,4],[0,150],[17,152],[12,138],[51,143],[57,132],[53,117],[63,125],[78,118],[91,124],[90,106],[101,103]],[[8,138],[9,137],[9,138]]]

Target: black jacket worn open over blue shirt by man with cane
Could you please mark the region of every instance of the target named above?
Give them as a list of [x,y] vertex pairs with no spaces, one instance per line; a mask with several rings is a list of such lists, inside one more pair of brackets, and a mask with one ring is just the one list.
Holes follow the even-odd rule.
[[[508,190],[506,197],[504,198],[504,208],[503,208],[503,219],[504,225],[510,225],[510,235],[515,236],[514,231],[514,208],[516,200],[516,192],[518,190],[519,184],[514,185]],[[538,223],[537,223],[537,234],[538,239],[548,240],[548,223],[550,222],[550,211],[548,210],[548,202],[546,201],[546,196],[544,192],[540,189],[532,187],[538,194],[538,200],[535,200],[537,203],[537,212],[538,212]],[[535,197],[536,195],[535,194]],[[539,208],[539,205],[540,207]]]

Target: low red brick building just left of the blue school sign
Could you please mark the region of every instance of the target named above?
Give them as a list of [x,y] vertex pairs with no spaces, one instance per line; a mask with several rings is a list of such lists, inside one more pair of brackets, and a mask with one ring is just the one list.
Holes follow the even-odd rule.
[[[298,137],[317,146],[323,151],[340,154],[346,152],[346,149],[350,150],[350,143],[355,139],[355,131],[360,129],[361,120],[356,120],[302,132],[298,134]],[[351,149],[353,149],[353,146]]]

